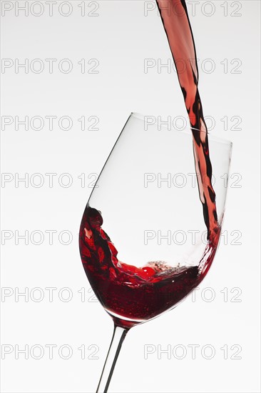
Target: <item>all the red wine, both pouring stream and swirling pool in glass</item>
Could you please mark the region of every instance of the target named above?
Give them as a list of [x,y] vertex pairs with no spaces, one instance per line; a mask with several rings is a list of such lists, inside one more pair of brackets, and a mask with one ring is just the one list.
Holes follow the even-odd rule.
[[193,132],[195,170],[208,245],[197,266],[174,268],[165,262],[148,262],[138,268],[125,264],[118,260],[116,247],[101,228],[101,212],[87,205],[79,237],[83,267],[103,307],[118,326],[126,328],[174,307],[197,287],[213,262],[220,237],[211,184],[208,130],[198,91],[197,56],[188,11],[185,0],[157,0],[157,3]]

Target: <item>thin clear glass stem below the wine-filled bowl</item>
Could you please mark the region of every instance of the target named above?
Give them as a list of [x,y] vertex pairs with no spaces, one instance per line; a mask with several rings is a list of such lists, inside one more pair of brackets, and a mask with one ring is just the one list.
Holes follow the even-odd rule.
[[113,338],[111,339],[111,345],[108,350],[108,355],[103,366],[103,372],[101,373],[101,379],[96,393],[106,393],[108,391],[118,354],[121,351],[121,346],[127,333],[128,329],[114,325]]

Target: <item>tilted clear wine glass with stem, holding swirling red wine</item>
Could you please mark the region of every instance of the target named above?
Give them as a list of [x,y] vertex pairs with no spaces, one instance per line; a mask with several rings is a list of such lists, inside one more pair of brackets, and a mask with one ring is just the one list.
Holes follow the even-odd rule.
[[218,229],[210,236],[193,157],[197,131],[132,113],[93,188],[79,244],[83,267],[114,322],[97,392],[107,392],[131,327],[173,309],[208,272],[218,248],[230,141],[208,136]]

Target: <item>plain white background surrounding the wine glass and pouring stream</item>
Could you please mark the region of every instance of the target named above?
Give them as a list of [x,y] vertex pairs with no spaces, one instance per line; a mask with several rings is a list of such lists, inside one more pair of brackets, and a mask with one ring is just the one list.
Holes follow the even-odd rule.
[[[29,119],[70,116],[73,126],[65,131],[55,120],[51,131],[46,120],[41,131],[30,125],[25,131],[21,124],[15,129],[15,122],[2,129],[2,172],[10,174],[9,179],[28,174],[29,184],[26,187],[21,181],[16,184],[11,180],[1,185],[2,236],[4,233],[11,237],[2,246],[1,285],[10,296],[1,298],[1,348],[9,345],[11,353],[1,361],[1,391],[94,392],[113,324],[101,305],[91,302],[93,294],[88,292],[90,286],[78,254],[78,227],[94,179],[88,176],[101,170],[131,111],[173,117],[185,117],[186,111],[174,71],[168,73],[166,68],[157,71],[154,67],[144,72],[144,59],[155,59],[156,64],[158,59],[162,63],[170,59],[157,11],[144,15],[146,6],[155,6],[153,2],[146,5],[141,0],[93,4],[86,1],[85,16],[81,16],[80,1],[69,3],[72,7],[69,16],[62,15],[69,10],[66,4],[59,12],[61,1],[53,5],[53,16],[49,16],[46,1],[41,1],[41,7],[36,2],[33,9],[30,8],[33,2],[29,1],[29,16],[25,16],[24,11],[16,9],[24,3],[1,1],[4,8],[13,6],[6,13],[2,8],[1,57],[14,63],[15,59],[20,63],[29,59],[28,74],[22,68],[16,72],[15,66],[1,69],[4,98],[1,115],[11,119],[19,116],[20,120],[24,116]],[[88,16],[93,9],[97,16]],[[212,134],[233,141],[231,174],[239,174],[240,181],[237,187],[230,186],[228,190],[223,227],[227,231],[227,244],[220,245],[210,273],[195,293],[195,302],[188,297],[172,312],[128,333],[111,392],[260,392],[257,248],[260,2],[189,1],[188,10],[197,46],[205,115],[215,119]],[[41,11],[42,15],[34,15]],[[30,68],[34,59],[44,62],[39,74],[35,72],[37,64],[35,69],[32,66],[34,71]],[[57,59],[52,74],[45,59]],[[73,64],[68,74],[58,69],[61,59],[70,59]],[[88,61],[98,59],[98,73],[82,74],[78,64],[81,59],[86,59],[87,71],[94,65]],[[239,63],[236,60],[231,64],[234,59],[239,59]],[[237,69],[241,72],[235,74],[237,64],[241,64]],[[213,72],[210,66],[215,68]],[[77,120],[81,116],[86,116],[87,126],[91,124],[90,116],[98,116],[98,131],[81,131]],[[227,130],[221,121],[224,116],[228,118]],[[232,116],[242,119],[237,130],[232,129],[235,124],[235,119],[230,121]],[[36,177],[31,178],[36,173],[44,176],[44,184],[39,188],[35,186]],[[53,187],[49,186],[46,173],[57,174],[53,177]],[[68,188],[61,182],[65,184],[66,177],[58,183],[64,173],[73,179]],[[78,179],[83,173],[85,186]],[[42,232],[42,244],[34,244],[39,239],[37,235],[33,242],[29,238],[28,245],[23,239],[16,239],[16,234],[24,234],[26,230],[29,237],[34,231]],[[57,231],[52,245],[46,230]],[[62,231],[73,234],[70,244],[58,240]],[[242,237],[237,243],[241,244],[233,244],[232,231],[240,231]],[[66,242],[66,235],[62,239]],[[44,293],[41,302],[36,302],[40,292],[31,292],[36,287]],[[46,287],[57,289],[53,292],[53,302]],[[73,294],[70,302],[64,302],[68,293],[63,291],[58,296],[64,287]],[[204,292],[209,287],[211,291]],[[25,288],[29,290],[28,302],[12,294]],[[86,289],[85,302],[81,302],[78,293],[82,288]],[[221,292],[224,288],[227,288],[227,302]],[[233,289],[235,292],[231,292]],[[211,294],[214,299],[207,302]],[[237,302],[232,298],[236,294]],[[30,354],[36,344],[44,348],[41,359],[35,359],[39,354],[37,348],[33,356]],[[53,359],[49,359],[46,344],[57,346],[53,349]],[[73,351],[70,359],[62,359],[58,354],[64,344]],[[86,359],[81,359],[78,350],[83,344]],[[148,359],[144,355],[145,344],[155,349]],[[178,359],[180,349],[173,355],[173,348],[178,344],[187,350],[183,359]],[[195,359],[189,344],[200,346]],[[215,350],[213,359],[205,359],[210,354],[208,349],[206,356],[201,352],[207,344]],[[24,354],[15,354],[15,345],[19,349],[28,345],[29,359]],[[228,359],[220,349],[224,346]],[[158,348],[170,348],[170,359],[164,353],[160,359]],[[240,359],[232,359],[238,348]],[[88,359],[96,349],[98,359]],[[64,349],[63,357],[66,354]]]

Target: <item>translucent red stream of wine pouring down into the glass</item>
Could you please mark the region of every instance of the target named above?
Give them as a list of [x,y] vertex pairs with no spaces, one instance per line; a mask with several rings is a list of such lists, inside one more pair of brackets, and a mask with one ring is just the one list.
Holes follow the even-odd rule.
[[[198,91],[198,64],[195,42],[185,0],[156,0],[178,73],[185,106],[193,132],[195,170],[208,238],[219,231],[215,191],[211,184],[212,165],[208,148],[208,129]],[[199,131],[200,132],[199,132]]]

